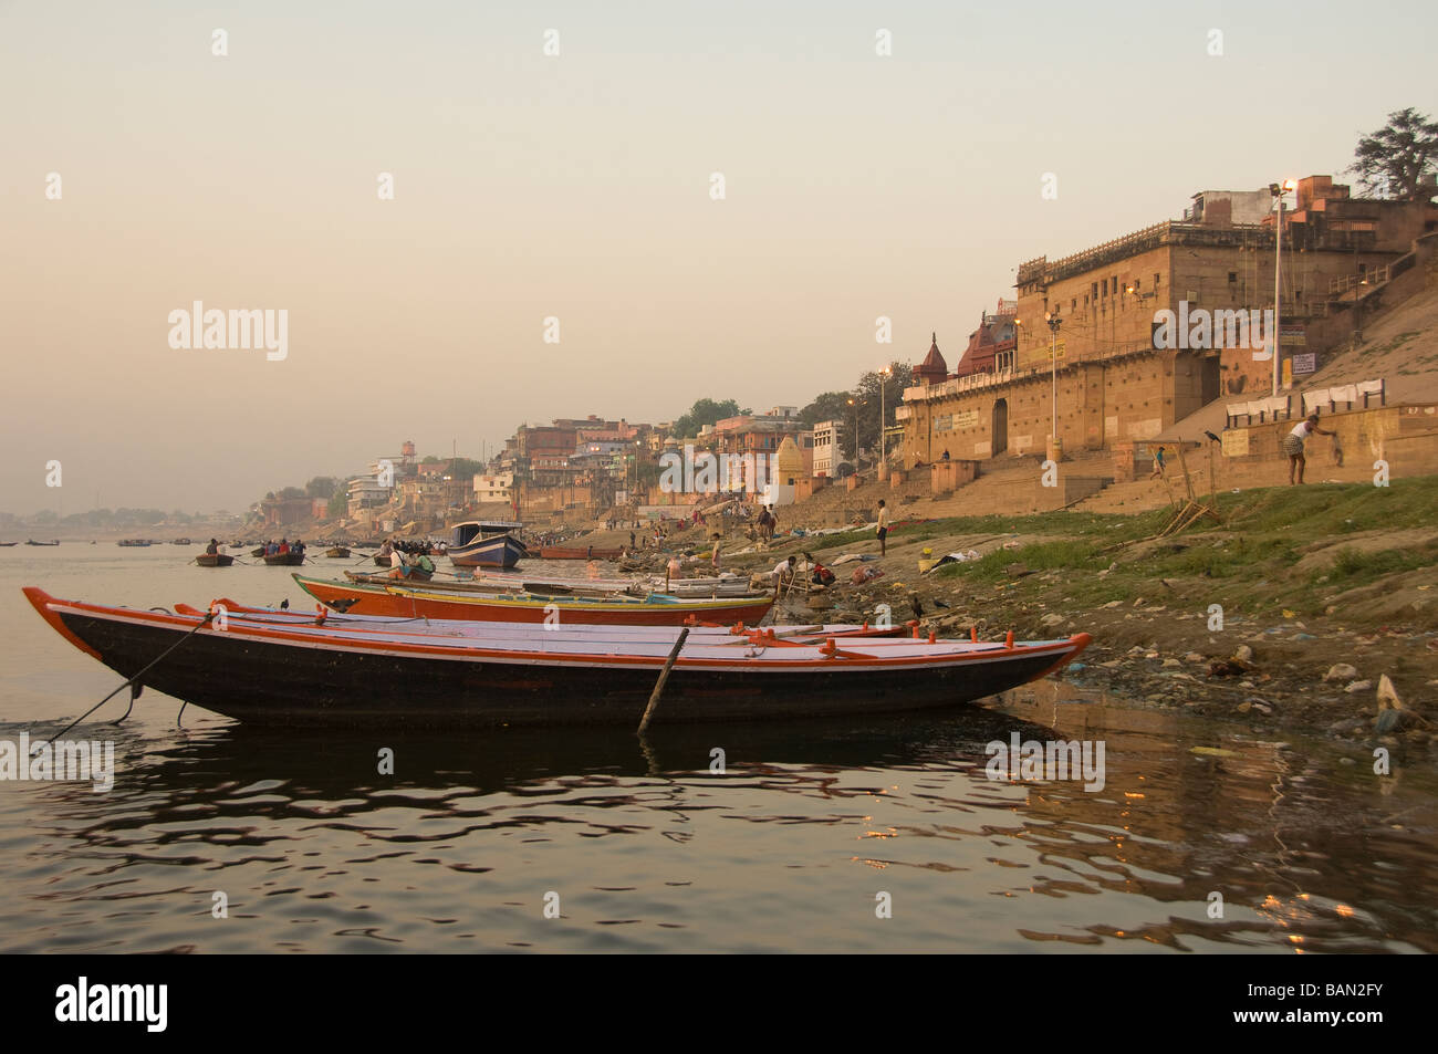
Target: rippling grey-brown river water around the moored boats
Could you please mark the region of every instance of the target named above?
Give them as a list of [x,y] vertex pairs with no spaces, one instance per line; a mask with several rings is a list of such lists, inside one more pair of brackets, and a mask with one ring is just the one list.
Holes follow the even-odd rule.
[[[0,739],[53,735],[119,683],[22,585],[313,605],[282,568],[197,552],[0,549]],[[70,733],[115,742],[109,792],[0,782],[0,950],[1438,950],[1431,771],[1071,683],[871,723],[660,718],[644,741],[178,709],[145,692]],[[985,743],[1014,732],[1102,742],[1103,788],[989,779]]]

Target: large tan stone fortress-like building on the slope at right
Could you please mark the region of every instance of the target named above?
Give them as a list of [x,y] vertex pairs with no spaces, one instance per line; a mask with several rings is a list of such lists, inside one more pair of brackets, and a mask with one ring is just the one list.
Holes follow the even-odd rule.
[[[1221,395],[1268,394],[1276,335],[1232,325],[1252,312],[1261,322],[1274,308],[1277,227],[1261,208],[1265,196],[1271,208],[1270,190],[1202,191],[1182,220],[1022,263],[1012,318],[1001,303],[969,339],[972,370],[940,380],[936,341],[915,370],[897,408],[905,462],[933,462],[943,450],[961,459],[1043,452],[1050,433],[1066,450],[1102,449],[1150,439]],[[1426,200],[1352,198],[1313,175],[1297,184],[1283,223],[1280,384],[1294,367],[1317,368],[1352,332],[1346,293],[1412,257],[1415,239],[1438,230],[1438,210]],[[1225,316],[1227,326],[1186,326]],[[1178,321],[1185,332],[1175,347]]]

